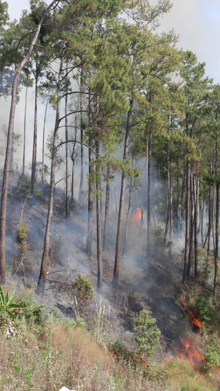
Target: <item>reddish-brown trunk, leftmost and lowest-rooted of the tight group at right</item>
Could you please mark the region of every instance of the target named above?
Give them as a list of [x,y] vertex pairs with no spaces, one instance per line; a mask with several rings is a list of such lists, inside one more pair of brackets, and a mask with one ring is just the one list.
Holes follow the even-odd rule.
[[[188,111],[186,111],[186,134],[188,135]],[[188,144],[186,152],[189,154]],[[190,162],[189,158],[186,164],[186,235],[185,235],[185,254],[184,254],[184,270],[182,275],[182,283],[186,282],[187,265],[189,260],[189,206],[190,206]]]

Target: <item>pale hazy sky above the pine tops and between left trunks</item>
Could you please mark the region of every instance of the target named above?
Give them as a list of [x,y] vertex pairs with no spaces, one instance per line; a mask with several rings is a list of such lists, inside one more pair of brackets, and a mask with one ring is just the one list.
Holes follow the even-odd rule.
[[[29,0],[7,0],[9,4],[10,19],[19,19],[22,9],[29,9]],[[47,0],[49,3],[49,0]],[[150,0],[156,4],[156,0]],[[220,0],[173,0],[170,13],[165,14],[161,20],[160,31],[168,32],[174,29],[179,35],[179,47],[183,50],[191,50],[197,54],[198,61],[206,63],[206,75],[214,79],[214,83],[220,83],[220,48],[218,38],[220,36]],[[27,112],[27,161],[32,159],[33,116],[34,116],[34,90],[28,92]],[[20,94],[20,103],[16,107],[15,126],[16,133],[23,134],[24,113],[23,90]],[[39,102],[38,111],[38,140],[42,138],[43,117],[45,106]],[[10,110],[10,101],[1,102],[3,108],[3,123],[7,124]],[[54,113],[49,109],[47,117],[47,133],[54,126]],[[22,146],[18,151],[22,152]],[[37,160],[41,160],[41,149],[38,148]]]

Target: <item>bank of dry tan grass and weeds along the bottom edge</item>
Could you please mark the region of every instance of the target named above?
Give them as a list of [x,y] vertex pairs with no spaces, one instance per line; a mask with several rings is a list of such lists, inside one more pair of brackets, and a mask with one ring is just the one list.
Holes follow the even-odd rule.
[[[54,321],[17,322],[17,337],[0,335],[1,391],[58,391],[62,386],[83,391],[216,391],[211,378],[188,361],[140,367],[115,359],[97,346],[92,334]],[[188,387],[188,388],[182,388]]]

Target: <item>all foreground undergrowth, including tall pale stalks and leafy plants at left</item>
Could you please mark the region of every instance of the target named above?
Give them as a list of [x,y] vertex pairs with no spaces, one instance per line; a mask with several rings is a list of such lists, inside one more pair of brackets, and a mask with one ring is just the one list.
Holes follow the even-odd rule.
[[218,389],[215,378],[198,373],[186,360],[140,360],[119,338],[108,341],[109,314],[101,303],[88,330],[78,314],[65,320],[56,308],[46,314],[25,291],[13,300],[22,312],[6,319],[13,333],[5,337],[5,323],[0,328],[1,391],[57,391],[63,386],[78,391]]

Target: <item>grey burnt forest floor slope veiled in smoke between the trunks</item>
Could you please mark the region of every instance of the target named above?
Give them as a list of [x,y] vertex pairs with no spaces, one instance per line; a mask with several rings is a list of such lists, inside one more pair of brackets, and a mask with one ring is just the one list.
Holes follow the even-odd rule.
[[[27,192],[26,192],[27,194]],[[34,288],[40,273],[43,252],[43,239],[47,218],[49,187],[45,186],[41,194],[28,196],[22,215],[22,222],[27,224],[28,249],[25,255],[25,277],[27,287]],[[88,322],[91,314],[105,306],[106,324],[109,321],[108,338],[121,339],[130,349],[135,348],[133,324],[137,313],[142,310],[152,311],[162,333],[159,353],[170,359],[178,355],[182,344],[180,336],[185,337],[190,329],[184,310],[178,302],[181,270],[175,254],[169,255],[160,246],[160,240],[154,238],[152,258],[149,270],[146,270],[144,243],[146,231],[130,226],[127,251],[121,257],[119,286],[112,289],[114,270],[114,251],[117,232],[117,216],[110,213],[106,251],[103,251],[103,289],[97,293],[97,258],[96,226],[93,229],[92,256],[88,256],[86,247],[87,210],[78,203],[70,205],[69,221],[65,222],[65,195],[59,189],[55,191],[54,215],[50,247],[49,273],[45,287],[43,304],[48,312],[57,308],[62,317],[76,317],[76,300],[71,281],[78,273],[84,273],[92,280],[94,297],[91,303],[78,300],[79,315]],[[7,205],[6,254],[8,270],[16,270],[16,230],[20,222],[22,204],[25,201],[23,190],[11,189]],[[122,241],[123,242],[123,241]],[[8,273],[11,281],[24,283],[23,270],[20,267],[16,276]],[[38,297],[36,296],[36,299]]]

